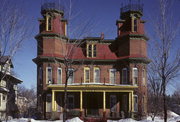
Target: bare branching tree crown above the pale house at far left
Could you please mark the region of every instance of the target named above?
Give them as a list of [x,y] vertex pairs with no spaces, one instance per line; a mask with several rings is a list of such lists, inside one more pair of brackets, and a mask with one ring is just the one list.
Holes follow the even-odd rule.
[[[20,0],[19,0],[20,1]],[[22,47],[23,41],[31,36],[31,29],[27,25],[27,17],[16,2],[2,0],[0,8],[0,59],[7,56],[11,61],[16,52]],[[7,73],[4,67],[4,76]]]

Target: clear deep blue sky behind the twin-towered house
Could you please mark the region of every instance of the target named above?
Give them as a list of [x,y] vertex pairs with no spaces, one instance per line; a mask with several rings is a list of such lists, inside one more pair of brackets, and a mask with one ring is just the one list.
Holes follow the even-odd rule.
[[[60,2],[66,7],[67,1],[61,0]],[[179,20],[180,1],[174,1],[175,4],[172,11],[177,13],[175,20]],[[33,34],[31,38],[23,42],[22,48],[14,57],[14,71],[23,80],[23,85],[28,88],[31,86],[36,87],[36,65],[32,62],[32,59],[36,57],[37,53],[34,36],[39,31],[38,18],[41,18],[40,7],[43,0],[16,0],[16,2],[27,15],[27,18],[29,18],[30,24],[27,26],[33,27]],[[78,22],[90,19],[94,23],[93,29],[89,33],[90,36],[100,36],[100,33],[104,32],[105,38],[116,38],[116,20],[120,17],[121,3],[127,3],[128,0],[72,0],[72,2],[73,14],[77,16],[76,20],[72,22],[74,24],[72,27],[76,26]],[[143,19],[147,21],[146,31],[151,33],[152,27],[149,21],[153,19],[153,15],[157,11],[157,0],[143,0],[143,2]]]

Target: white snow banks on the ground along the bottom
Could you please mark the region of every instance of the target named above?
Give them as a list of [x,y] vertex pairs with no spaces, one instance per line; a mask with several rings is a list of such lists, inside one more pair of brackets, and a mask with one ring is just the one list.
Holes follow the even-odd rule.
[[[168,122],[178,122],[180,121],[180,115],[177,115],[174,112],[168,112]],[[46,121],[46,120],[34,120],[34,119],[28,119],[28,118],[20,118],[20,119],[12,119],[8,120],[8,122],[63,122],[62,120],[57,121]],[[83,122],[78,117],[75,117],[73,119],[69,119],[66,122]],[[128,119],[121,119],[118,121],[108,120],[107,122],[163,122],[162,117],[156,117],[154,121],[151,120],[151,117],[147,117],[146,120],[136,121],[131,118]]]

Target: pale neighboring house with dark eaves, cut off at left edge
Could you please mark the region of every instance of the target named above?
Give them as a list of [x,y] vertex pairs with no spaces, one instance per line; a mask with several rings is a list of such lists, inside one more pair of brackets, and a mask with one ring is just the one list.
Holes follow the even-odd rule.
[[22,81],[11,74],[13,64],[9,56],[0,56],[0,119],[17,116],[17,85]]

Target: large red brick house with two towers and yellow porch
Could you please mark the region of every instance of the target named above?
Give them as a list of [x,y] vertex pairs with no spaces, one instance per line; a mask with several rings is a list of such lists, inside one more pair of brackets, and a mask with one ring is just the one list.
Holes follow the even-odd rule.
[[[37,64],[38,111],[49,119],[63,112],[64,52],[80,39],[67,43],[67,20],[57,4],[45,3],[41,14],[36,36],[38,52],[33,61]],[[77,63],[68,69],[69,111],[78,111],[81,117],[116,119],[147,115],[146,73],[150,60],[142,15],[142,4],[123,6],[116,21],[115,39],[104,39],[103,34],[87,37],[74,49],[71,58]]]

